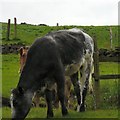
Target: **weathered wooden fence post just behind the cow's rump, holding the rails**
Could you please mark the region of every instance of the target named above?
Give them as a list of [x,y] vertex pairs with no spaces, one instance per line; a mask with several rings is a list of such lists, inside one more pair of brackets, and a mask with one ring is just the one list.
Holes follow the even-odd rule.
[[96,37],[94,37],[94,92],[96,108],[100,107],[100,80],[99,80],[99,52],[97,47]]

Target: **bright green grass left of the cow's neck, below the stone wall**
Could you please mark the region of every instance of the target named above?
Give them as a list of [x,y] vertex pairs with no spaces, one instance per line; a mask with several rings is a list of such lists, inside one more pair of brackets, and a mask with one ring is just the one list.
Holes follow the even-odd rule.
[[11,89],[18,83],[19,56],[13,54],[2,57],[2,96],[9,97]]

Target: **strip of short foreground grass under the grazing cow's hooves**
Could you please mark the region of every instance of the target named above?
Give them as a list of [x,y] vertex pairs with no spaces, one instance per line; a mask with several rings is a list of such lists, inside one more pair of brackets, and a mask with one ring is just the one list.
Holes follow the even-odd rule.
[[[2,118],[11,118],[11,110],[8,107],[2,109]],[[26,118],[45,118],[46,108],[32,108]],[[54,109],[54,118],[61,118],[61,110]],[[118,110],[95,110],[78,113],[69,110],[69,114],[65,118],[118,118]]]

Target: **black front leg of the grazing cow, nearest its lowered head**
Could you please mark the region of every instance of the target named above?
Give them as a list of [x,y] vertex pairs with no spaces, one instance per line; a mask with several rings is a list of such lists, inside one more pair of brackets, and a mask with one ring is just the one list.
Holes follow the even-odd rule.
[[52,91],[46,89],[46,101],[47,101],[47,118],[53,117],[53,109],[52,109]]

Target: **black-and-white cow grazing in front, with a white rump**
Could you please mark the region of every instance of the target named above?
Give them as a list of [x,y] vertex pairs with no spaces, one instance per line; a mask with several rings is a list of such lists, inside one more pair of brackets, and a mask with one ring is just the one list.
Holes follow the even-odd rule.
[[[12,118],[25,118],[35,91],[46,87],[47,117],[53,117],[52,88],[57,94],[62,115],[65,106],[65,76],[70,76],[77,96],[77,111],[85,111],[85,97],[93,64],[93,40],[79,29],[59,30],[38,38],[30,47],[19,83],[11,94]],[[81,80],[78,79],[78,71]]]

